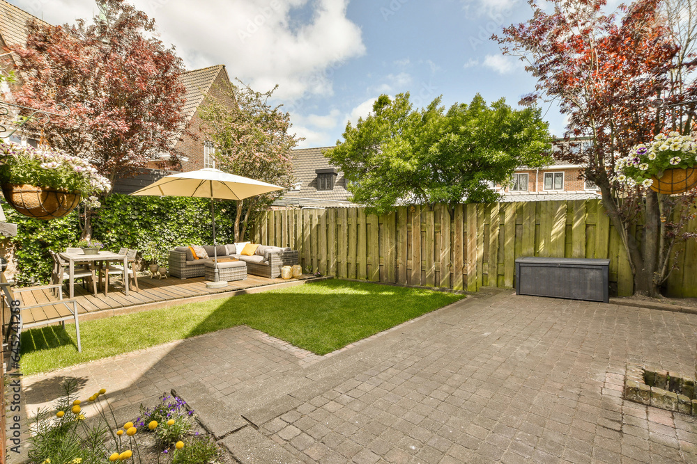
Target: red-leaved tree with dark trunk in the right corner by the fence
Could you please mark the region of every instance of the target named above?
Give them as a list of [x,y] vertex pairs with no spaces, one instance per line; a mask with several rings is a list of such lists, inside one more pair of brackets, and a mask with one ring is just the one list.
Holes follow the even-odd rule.
[[[568,118],[567,140],[590,138],[562,157],[585,164],[585,178],[599,186],[627,250],[634,290],[650,296],[674,268],[675,243],[694,237],[684,231],[694,193],[659,195],[621,184],[615,163],[661,131],[692,129],[697,17],[691,2],[638,0],[608,15],[605,0],[554,0],[551,13],[531,0],[532,19],[493,36],[537,77],[535,93],[523,103],[556,99]],[[687,19],[693,26],[686,29]]]

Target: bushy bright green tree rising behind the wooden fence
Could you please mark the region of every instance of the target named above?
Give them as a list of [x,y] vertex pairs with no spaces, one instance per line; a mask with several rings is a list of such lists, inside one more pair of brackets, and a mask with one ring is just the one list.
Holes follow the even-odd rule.
[[498,194],[487,181],[508,184],[516,168],[549,163],[547,127],[539,109],[504,99],[487,106],[477,94],[446,113],[441,97],[415,110],[408,93],[381,95],[325,157],[344,171],[351,201],[378,214],[400,202],[491,202]]

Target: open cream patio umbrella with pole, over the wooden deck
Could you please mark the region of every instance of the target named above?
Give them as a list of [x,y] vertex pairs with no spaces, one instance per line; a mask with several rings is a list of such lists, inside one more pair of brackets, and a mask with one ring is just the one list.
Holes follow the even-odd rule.
[[[278,190],[284,190],[284,188],[241,175],[224,173],[219,169],[205,168],[188,173],[167,175],[157,182],[131,193],[131,195],[210,198],[210,216],[213,220],[213,256],[217,264],[214,200],[243,200],[254,195]],[[218,270],[215,266],[215,282],[218,280]]]

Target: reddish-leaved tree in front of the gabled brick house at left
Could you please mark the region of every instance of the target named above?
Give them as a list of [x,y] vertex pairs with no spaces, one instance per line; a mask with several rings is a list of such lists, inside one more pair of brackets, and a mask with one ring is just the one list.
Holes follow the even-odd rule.
[[93,24],[29,23],[17,102],[70,115],[43,134],[52,147],[92,163],[113,181],[159,154],[176,159],[185,124],[181,58],[155,38],[155,22],[123,0],[98,1]]

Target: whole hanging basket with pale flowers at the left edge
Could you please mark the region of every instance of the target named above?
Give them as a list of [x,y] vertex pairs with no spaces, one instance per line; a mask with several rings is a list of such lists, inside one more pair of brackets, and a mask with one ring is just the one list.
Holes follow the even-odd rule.
[[38,219],[65,216],[80,198],[109,190],[106,177],[87,161],[53,148],[0,141],[0,185],[17,211]]

